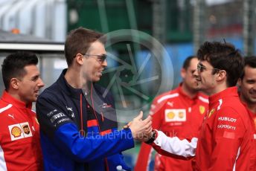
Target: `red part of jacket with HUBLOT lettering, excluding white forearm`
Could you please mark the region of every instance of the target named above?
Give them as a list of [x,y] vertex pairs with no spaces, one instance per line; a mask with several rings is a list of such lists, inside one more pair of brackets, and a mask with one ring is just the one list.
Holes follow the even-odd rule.
[[252,127],[237,87],[209,97],[196,148],[195,170],[249,170]]

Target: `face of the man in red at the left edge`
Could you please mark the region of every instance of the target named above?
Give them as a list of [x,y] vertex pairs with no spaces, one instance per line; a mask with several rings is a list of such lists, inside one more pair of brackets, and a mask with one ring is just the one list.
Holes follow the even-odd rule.
[[39,89],[45,85],[36,65],[27,65],[24,69],[26,74],[22,78],[16,78],[16,89],[19,100],[28,104],[36,101]]

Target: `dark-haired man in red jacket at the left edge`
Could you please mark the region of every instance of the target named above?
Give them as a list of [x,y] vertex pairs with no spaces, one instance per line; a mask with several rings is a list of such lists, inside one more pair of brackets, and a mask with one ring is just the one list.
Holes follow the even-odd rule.
[[42,170],[39,123],[31,110],[44,83],[36,54],[10,54],[1,65],[0,170]]

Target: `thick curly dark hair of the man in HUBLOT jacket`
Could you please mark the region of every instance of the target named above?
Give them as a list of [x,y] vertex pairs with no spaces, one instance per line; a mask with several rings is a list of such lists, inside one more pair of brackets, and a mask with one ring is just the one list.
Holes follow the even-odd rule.
[[[243,72],[243,57],[234,45],[227,42],[205,42],[197,51],[199,60],[207,60],[214,68],[225,70],[227,86],[236,86]],[[213,70],[213,74],[217,70]]]

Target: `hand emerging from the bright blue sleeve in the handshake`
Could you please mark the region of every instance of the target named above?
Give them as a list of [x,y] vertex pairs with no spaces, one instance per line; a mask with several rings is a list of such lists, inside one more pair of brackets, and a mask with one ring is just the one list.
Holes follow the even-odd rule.
[[142,120],[143,112],[140,112],[131,122],[127,124],[127,127],[132,131],[132,137],[138,141],[145,141],[152,132],[152,117],[148,116]]

